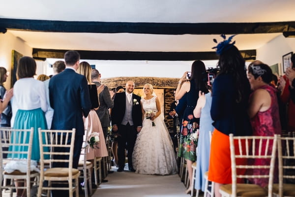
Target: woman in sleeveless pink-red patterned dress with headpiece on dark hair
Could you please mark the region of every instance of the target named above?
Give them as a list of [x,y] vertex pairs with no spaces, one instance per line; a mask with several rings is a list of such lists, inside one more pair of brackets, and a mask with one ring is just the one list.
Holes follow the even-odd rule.
[[[276,89],[269,85],[271,81],[271,69],[269,66],[258,63],[251,63],[248,67],[248,79],[251,89],[254,91],[250,95],[250,103],[248,114],[251,119],[253,135],[257,136],[273,136],[281,134],[281,124],[279,117],[279,107],[276,96]],[[256,144],[259,146],[259,144]],[[263,144],[265,147],[265,144]],[[268,151],[271,153],[272,143],[268,145]],[[265,151],[265,150],[262,150]],[[270,159],[255,159],[254,165],[269,165]],[[277,166],[274,171],[274,183],[278,182]],[[254,169],[254,174],[268,174],[269,169]],[[268,184],[268,178],[250,179],[261,187]]]

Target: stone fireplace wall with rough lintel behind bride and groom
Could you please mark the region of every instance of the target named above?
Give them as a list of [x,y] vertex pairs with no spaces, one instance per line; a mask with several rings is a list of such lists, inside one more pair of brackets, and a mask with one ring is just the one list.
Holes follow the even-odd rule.
[[111,88],[117,86],[125,87],[127,81],[134,81],[135,88],[143,88],[146,83],[152,84],[154,89],[164,89],[164,115],[165,123],[170,132],[173,131],[173,120],[167,119],[170,110],[170,103],[174,101],[174,89],[177,88],[179,78],[160,78],[160,77],[114,77],[102,79],[102,84]]

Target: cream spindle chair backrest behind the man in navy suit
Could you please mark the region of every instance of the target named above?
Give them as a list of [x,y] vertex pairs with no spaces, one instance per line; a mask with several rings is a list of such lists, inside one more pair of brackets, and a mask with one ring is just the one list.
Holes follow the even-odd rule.
[[[70,178],[73,168],[73,153],[76,130],[41,130],[38,129],[40,144],[40,168],[44,170],[44,164],[56,162],[68,163]],[[63,148],[62,152],[57,151]],[[59,155],[66,155],[63,159],[57,158]]]

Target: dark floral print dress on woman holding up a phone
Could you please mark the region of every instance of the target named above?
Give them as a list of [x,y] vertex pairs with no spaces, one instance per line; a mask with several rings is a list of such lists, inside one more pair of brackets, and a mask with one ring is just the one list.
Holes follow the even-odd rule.
[[200,119],[195,118],[193,115],[194,108],[199,99],[199,91],[195,89],[194,83],[190,83],[190,91],[186,94],[187,105],[183,113],[178,157],[195,162],[197,159],[196,147],[198,144],[197,130],[199,129]]

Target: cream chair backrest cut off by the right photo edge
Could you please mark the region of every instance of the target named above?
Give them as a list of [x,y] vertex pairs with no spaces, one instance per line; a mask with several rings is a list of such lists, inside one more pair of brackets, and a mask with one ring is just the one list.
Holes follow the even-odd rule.
[[283,196],[284,179],[295,179],[295,136],[278,139],[279,197]]

